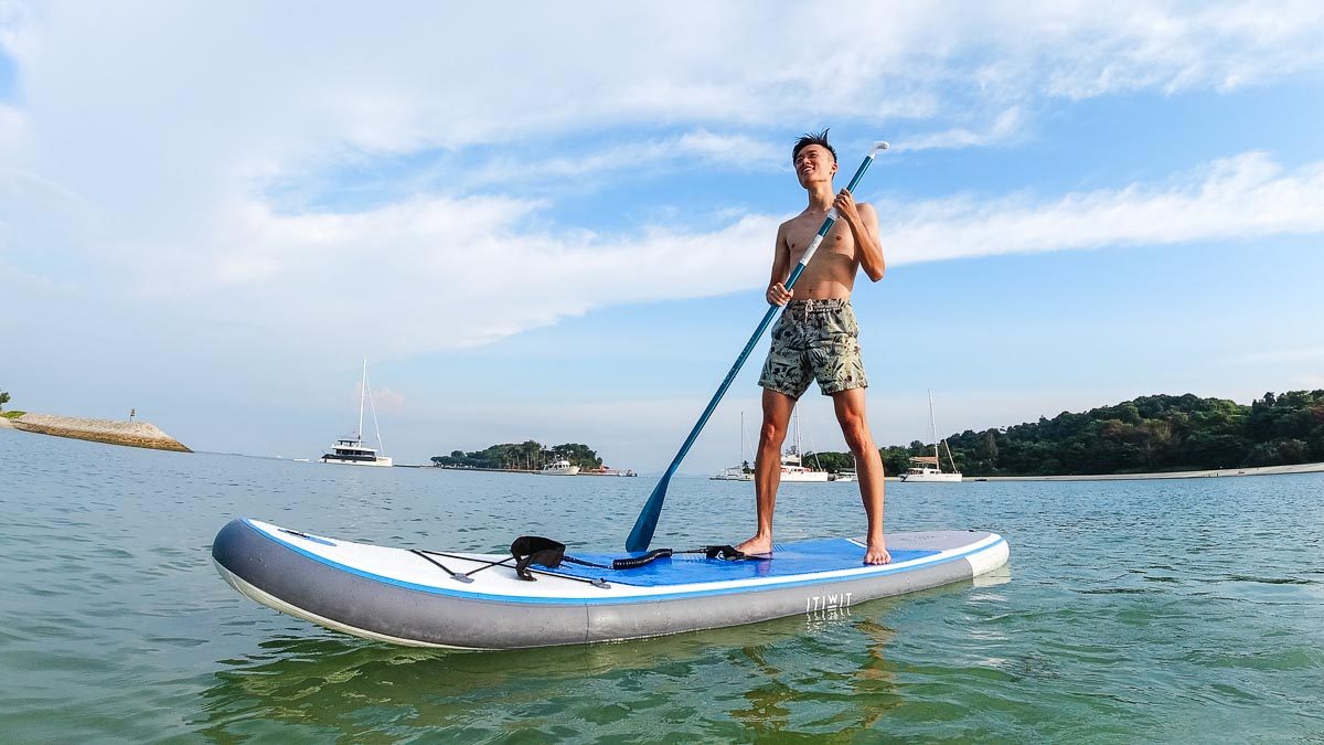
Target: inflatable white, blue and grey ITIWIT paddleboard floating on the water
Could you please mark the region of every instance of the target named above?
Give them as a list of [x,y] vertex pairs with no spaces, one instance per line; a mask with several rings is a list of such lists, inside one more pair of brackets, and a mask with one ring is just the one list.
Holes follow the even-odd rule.
[[[821,614],[970,579],[1006,563],[996,533],[887,536],[892,562],[866,566],[850,538],[779,544],[771,557],[674,554],[610,569],[622,554],[571,551],[583,563],[504,554],[395,549],[324,538],[257,520],[216,536],[212,559],[244,595],[312,623],[414,647],[506,650],[585,644]],[[626,557],[638,554],[625,554]]]

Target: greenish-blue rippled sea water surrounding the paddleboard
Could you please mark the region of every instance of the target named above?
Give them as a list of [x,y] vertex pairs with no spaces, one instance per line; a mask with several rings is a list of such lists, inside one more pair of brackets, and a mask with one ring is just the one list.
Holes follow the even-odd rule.
[[[0,430],[0,740],[1320,741],[1324,475],[888,484],[890,530],[986,528],[994,577],[666,639],[368,643],[240,597],[232,517],[377,544],[624,544],[655,481],[356,469]],[[675,479],[654,546],[752,530],[749,484]],[[779,540],[863,533],[797,484]]]

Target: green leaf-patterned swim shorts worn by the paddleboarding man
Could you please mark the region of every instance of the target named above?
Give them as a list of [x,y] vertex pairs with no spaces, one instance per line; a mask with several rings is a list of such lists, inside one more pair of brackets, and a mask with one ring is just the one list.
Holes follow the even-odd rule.
[[812,379],[825,396],[869,387],[849,300],[793,300],[772,327],[759,384],[800,399]]

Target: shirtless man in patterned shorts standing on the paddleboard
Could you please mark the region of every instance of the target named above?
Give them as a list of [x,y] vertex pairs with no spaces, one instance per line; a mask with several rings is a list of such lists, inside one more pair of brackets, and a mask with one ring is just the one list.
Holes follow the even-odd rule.
[[[865,365],[859,354],[859,327],[850,308],[855,274],[863,268],[871,281],[883,278],[883,248],[878,240],[878,213],[855,203],[846,190],[833,192],[837,151],[828,144],[828,130],[806,134],[792,150],[800,186],[809,192],[809,207],[777,229],[768,302],[785,306],[772,329],[772,349],[759,384],[763,386],[763,428],[755,464],[755,498],[759,532],[736,546],[747,554],[772,551],[772,512],[781,484],[781,445],[790,412],[812,378],[824,395],[833,398],[837,422],[855,455],[859,496],[869,517],[869,547],[865,563],[887,563],[891,555],[883,540],[883,461],[865,415]],[[796,280],[794,290],[784,282],[814,240],[830,208],[838,221],[824,237],[818,252]]]

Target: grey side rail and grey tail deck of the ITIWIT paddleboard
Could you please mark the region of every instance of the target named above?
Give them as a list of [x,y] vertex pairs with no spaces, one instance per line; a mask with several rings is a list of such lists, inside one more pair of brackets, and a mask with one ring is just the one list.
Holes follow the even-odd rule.
[[[936,532],[925,534],[932,537],[931,545],[906,547],[943,550],[986,536]],[[242,520],[230,521],[216,536],[212,558],[253,587],[350,630],[406,644],[470,650],[584,644],[739,626],[846,608],[974,574],[968,559],[955,558],[906,571],[674,599],[510,602],[429,593],[354,574],[301,554]]]

